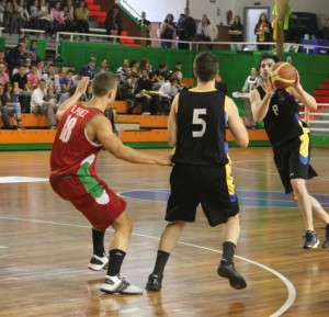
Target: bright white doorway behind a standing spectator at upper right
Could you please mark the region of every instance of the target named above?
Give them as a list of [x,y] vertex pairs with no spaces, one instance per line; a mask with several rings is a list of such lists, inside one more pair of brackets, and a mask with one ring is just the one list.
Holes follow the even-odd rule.
[[[268,15],[268,20],[270,21],[270,8],[269,7],[246,7],[243,12],[243,21],[245,21],[245,42],[256,42],[254,26],[258,23],[259,16],[261,13],[265,13]],[[248,50],[256,49],[256,45],[247,45]]]

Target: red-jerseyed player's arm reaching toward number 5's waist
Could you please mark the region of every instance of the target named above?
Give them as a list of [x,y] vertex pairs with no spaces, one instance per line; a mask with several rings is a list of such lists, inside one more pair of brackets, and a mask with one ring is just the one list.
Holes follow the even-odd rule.
[[171,166],[171,156],[156,157],[125,146],[113,133],[110,121],[104,116],[98,116],[88,127],[91,139],[98,140],[103,148],[118,159],[131,163]]

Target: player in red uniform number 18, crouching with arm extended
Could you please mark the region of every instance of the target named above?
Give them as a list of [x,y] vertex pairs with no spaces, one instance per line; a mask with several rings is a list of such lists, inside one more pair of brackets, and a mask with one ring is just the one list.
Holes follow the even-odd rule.
[[[81,103],[89,79],[83,78],[76,93],[57,111],[59,120],[52,155],[50,184],[64,200],[71,202],[92,225],[93,256],[89,268],[107,270],[101,291],[140,294],[143,290],[120,275],[133,224],[125,213],[126,203],[102,181],[95,171],[98,154],[105,149],[116,158],[145,165],[171,165],[170,156],[152,157],[126,147],[113,133],[104,111],[115,99],[116,76],[101,72],[92,80],[92,99]],[[104,234],[112,226],[110,252],[104,249]],[[109,260],[110,253],[110,260]]]

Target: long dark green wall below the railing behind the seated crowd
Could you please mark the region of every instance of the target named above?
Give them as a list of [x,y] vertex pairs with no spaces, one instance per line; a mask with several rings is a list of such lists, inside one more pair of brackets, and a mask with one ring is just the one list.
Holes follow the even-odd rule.
[[[73,67],[79,71],[88,63],[90,56],[98,58],[98,65],[102,59],[107,59],[110,68],[115,71],[124,58],[138,59],[149,58],[152,69],[161,61],[168,64],[168,70],[172,69],[174,63],[180,60],[183,66],[183,76],[193,77],[193,59],[197,50],[161,49],[152,47],[131,47],[112,44],[89,44],[63,42],[60,57],[64,65]],[[231,52],[213,50],[219,59],[219,70],[228,87],[228,95],[234,91],[241,91],[246,78],[250,75],[253,66],[259,66],[259,57],[262,52]],[[300,82],[306,91],[313,90],[326,81],[329,76],[329,56],[303,53],[287,53],[284,59],[292,57],[293,65],[298,69]],[[240,114],[245,114],[245,103],[241,99],[235,99]]]

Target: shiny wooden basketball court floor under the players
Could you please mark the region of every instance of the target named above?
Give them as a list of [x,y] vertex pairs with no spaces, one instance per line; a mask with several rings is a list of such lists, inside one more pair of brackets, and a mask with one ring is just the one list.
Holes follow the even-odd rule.
[[[231,148],[230,156],[241,206],[235,264],[248,287],[232,290],[217,276],[222,229],[200,210],[169,259],[162,291],[126,296],[102,294],[105,272],[87,269],[91,229],[48,185],[49,151],[0,152],[0,316],[329,316],[329,250],[302,249],[302,216],[282,194],[271,149]],[[308,189],[329,212],[328,149],[314,149],[313,166],[320,177]],[[134,230],[122,273],[144,287],[166,225],[170,168],[103,152],[98,169],[126,197]],[[315,227],[321,241],[324,225]]]

